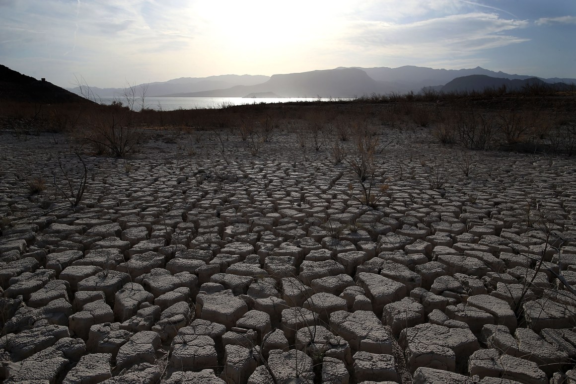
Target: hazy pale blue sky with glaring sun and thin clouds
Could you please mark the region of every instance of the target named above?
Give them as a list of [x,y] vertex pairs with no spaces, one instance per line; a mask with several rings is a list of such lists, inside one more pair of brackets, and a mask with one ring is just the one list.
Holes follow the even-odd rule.
[[403,65],[576,78],[576,0],[0,0],[0,63],[69,87]]

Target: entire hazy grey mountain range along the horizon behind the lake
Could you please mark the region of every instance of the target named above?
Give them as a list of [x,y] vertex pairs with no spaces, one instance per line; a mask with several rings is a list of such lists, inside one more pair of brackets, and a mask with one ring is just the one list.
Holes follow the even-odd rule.
[[[480,76],[480,77],[473,77]],[[464,78],[450,84],[457,78]],[[472,69],[433,69],[428,67],[338,67],[303,73],[268,76],[222,75],[210,77],[182,77],[147,85],[147,97],[357,97],[372,93],[420,92],[422,88],[437,91],[482,91],[484,88],[506,84],[513,89],[522,81],[535,76],[491,71],[482,67]],[[490,80],[495,79],[495,80]],[[576,83],[574,78],[537,78],[547,84]],[[516,81],[512,86],[510,81]],[[136,91],[141,92],[140,85]],[[447,87],[445,89],[445,87]],[[78,88],[69,91],[79,93]],[[120,96],[124,88],[92,88],[101,97]],[[262,96],[260,96],[262,95]]]

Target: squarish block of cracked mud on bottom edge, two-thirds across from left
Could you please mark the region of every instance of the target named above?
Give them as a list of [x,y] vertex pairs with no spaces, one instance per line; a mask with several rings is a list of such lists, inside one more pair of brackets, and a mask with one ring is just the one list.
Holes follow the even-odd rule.
[[381,355],[370,352],[354,353],[354,380],[356,382],[366,380],[400,382],[396,372],[394,356]]

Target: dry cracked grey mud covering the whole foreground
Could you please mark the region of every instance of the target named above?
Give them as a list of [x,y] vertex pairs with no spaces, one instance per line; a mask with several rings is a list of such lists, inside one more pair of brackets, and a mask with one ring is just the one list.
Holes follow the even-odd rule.
[[376,137],[0,134],[0,379],[575,382],[576,160]]

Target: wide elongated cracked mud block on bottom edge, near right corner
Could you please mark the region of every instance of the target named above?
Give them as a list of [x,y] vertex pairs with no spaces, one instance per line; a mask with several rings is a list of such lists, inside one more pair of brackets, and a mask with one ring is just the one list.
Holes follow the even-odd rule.
[[480,349],[472,353],[468,362],[471,375],[480,378],[497,377],[524,384],[547,384],[546,374],[536,363],[510,355],[500,356],[496,349]]

